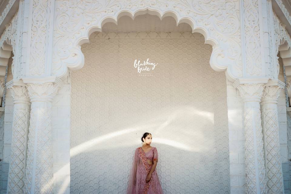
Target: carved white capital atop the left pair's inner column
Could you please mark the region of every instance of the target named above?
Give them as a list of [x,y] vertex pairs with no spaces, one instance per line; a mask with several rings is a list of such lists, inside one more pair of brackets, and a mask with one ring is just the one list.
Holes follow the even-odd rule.
[[55,76],[44,78],[27,77],[22,78],[22,80],[27,85],[31,102],[52,102],[58,89],[63,85],[62,81]]

